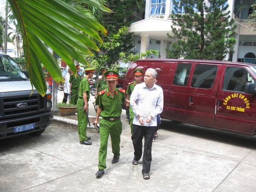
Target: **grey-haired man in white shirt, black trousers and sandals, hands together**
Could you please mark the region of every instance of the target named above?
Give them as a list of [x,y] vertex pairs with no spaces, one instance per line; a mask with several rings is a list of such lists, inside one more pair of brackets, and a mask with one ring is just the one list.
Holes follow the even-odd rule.
[[132,123],[134,159],[132,164],[137,165],[141,159],[144,137],[143,179],[150,179],[152,137],[157,126],[156,116],[163,111],[163,89],[154,84],[156,76],[156,70],[148,68],[144,75],[144,83],[136,85],[130,97],[130,106],[134,112]]

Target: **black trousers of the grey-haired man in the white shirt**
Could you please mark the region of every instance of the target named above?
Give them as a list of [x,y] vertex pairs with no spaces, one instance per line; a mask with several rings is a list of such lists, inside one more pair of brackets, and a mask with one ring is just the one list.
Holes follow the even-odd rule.
[[146,127],[132,124],[132,143],[134,145],[134,160],[139,161],[142,156],[142,139],[144,137],[144,151],[142,159],[142,173],[150,172],[152,161],[152,138],[155,133],[156,126]]

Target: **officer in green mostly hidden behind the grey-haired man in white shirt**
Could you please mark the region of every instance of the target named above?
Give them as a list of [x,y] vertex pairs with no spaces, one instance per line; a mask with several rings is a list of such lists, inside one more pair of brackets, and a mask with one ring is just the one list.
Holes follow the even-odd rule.
[[[141,69],[135,69],[134,72],[134,79],[135,81],[133,82],[130,82],[128,84],[128,87],[126,89],[126,98],[128,100],[130,100],[130,96],[132,94],[132,91],[134,90],[134,87],[139,84],[139,83],[142,83],[141,79],[142,79],[142,76],[143,76],[143,70]],[[126,103],[126,107],[129,107],[129,103]],[[134,112],[132,111],[132,108],[129,107],[129,112],[130,112],[130,127],[131,127],[131,134],[132,134],[132,121],[134,120]]]

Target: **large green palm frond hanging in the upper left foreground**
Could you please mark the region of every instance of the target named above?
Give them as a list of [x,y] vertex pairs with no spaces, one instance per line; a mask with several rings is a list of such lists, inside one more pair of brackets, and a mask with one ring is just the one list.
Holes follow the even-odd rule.
[[[81,2],[110,12],[96,0]],[[76,73],[73,60],[89,66],[83,54],[92,55],[91,50],[99,51],[88,36],[102,42],[98,32],[107,33],[96,20],[61,0],[9,0],[9,3],[22,33],[30,81],[41,95],[46,92],[41,63],[57,82],[63,81],[60,68],[45,44]]]

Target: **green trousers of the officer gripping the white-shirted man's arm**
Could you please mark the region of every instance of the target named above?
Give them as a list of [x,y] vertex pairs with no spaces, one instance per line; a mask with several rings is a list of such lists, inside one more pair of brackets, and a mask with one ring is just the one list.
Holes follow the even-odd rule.
[[106,169],[106,158],[108,150],[108,137],[110,133],[112,152],[115,157],[120,156],[120,136],[122,133],[121,119],[111,121],[102,118],[100,120],[100,150],[99,150],[99,169]]

